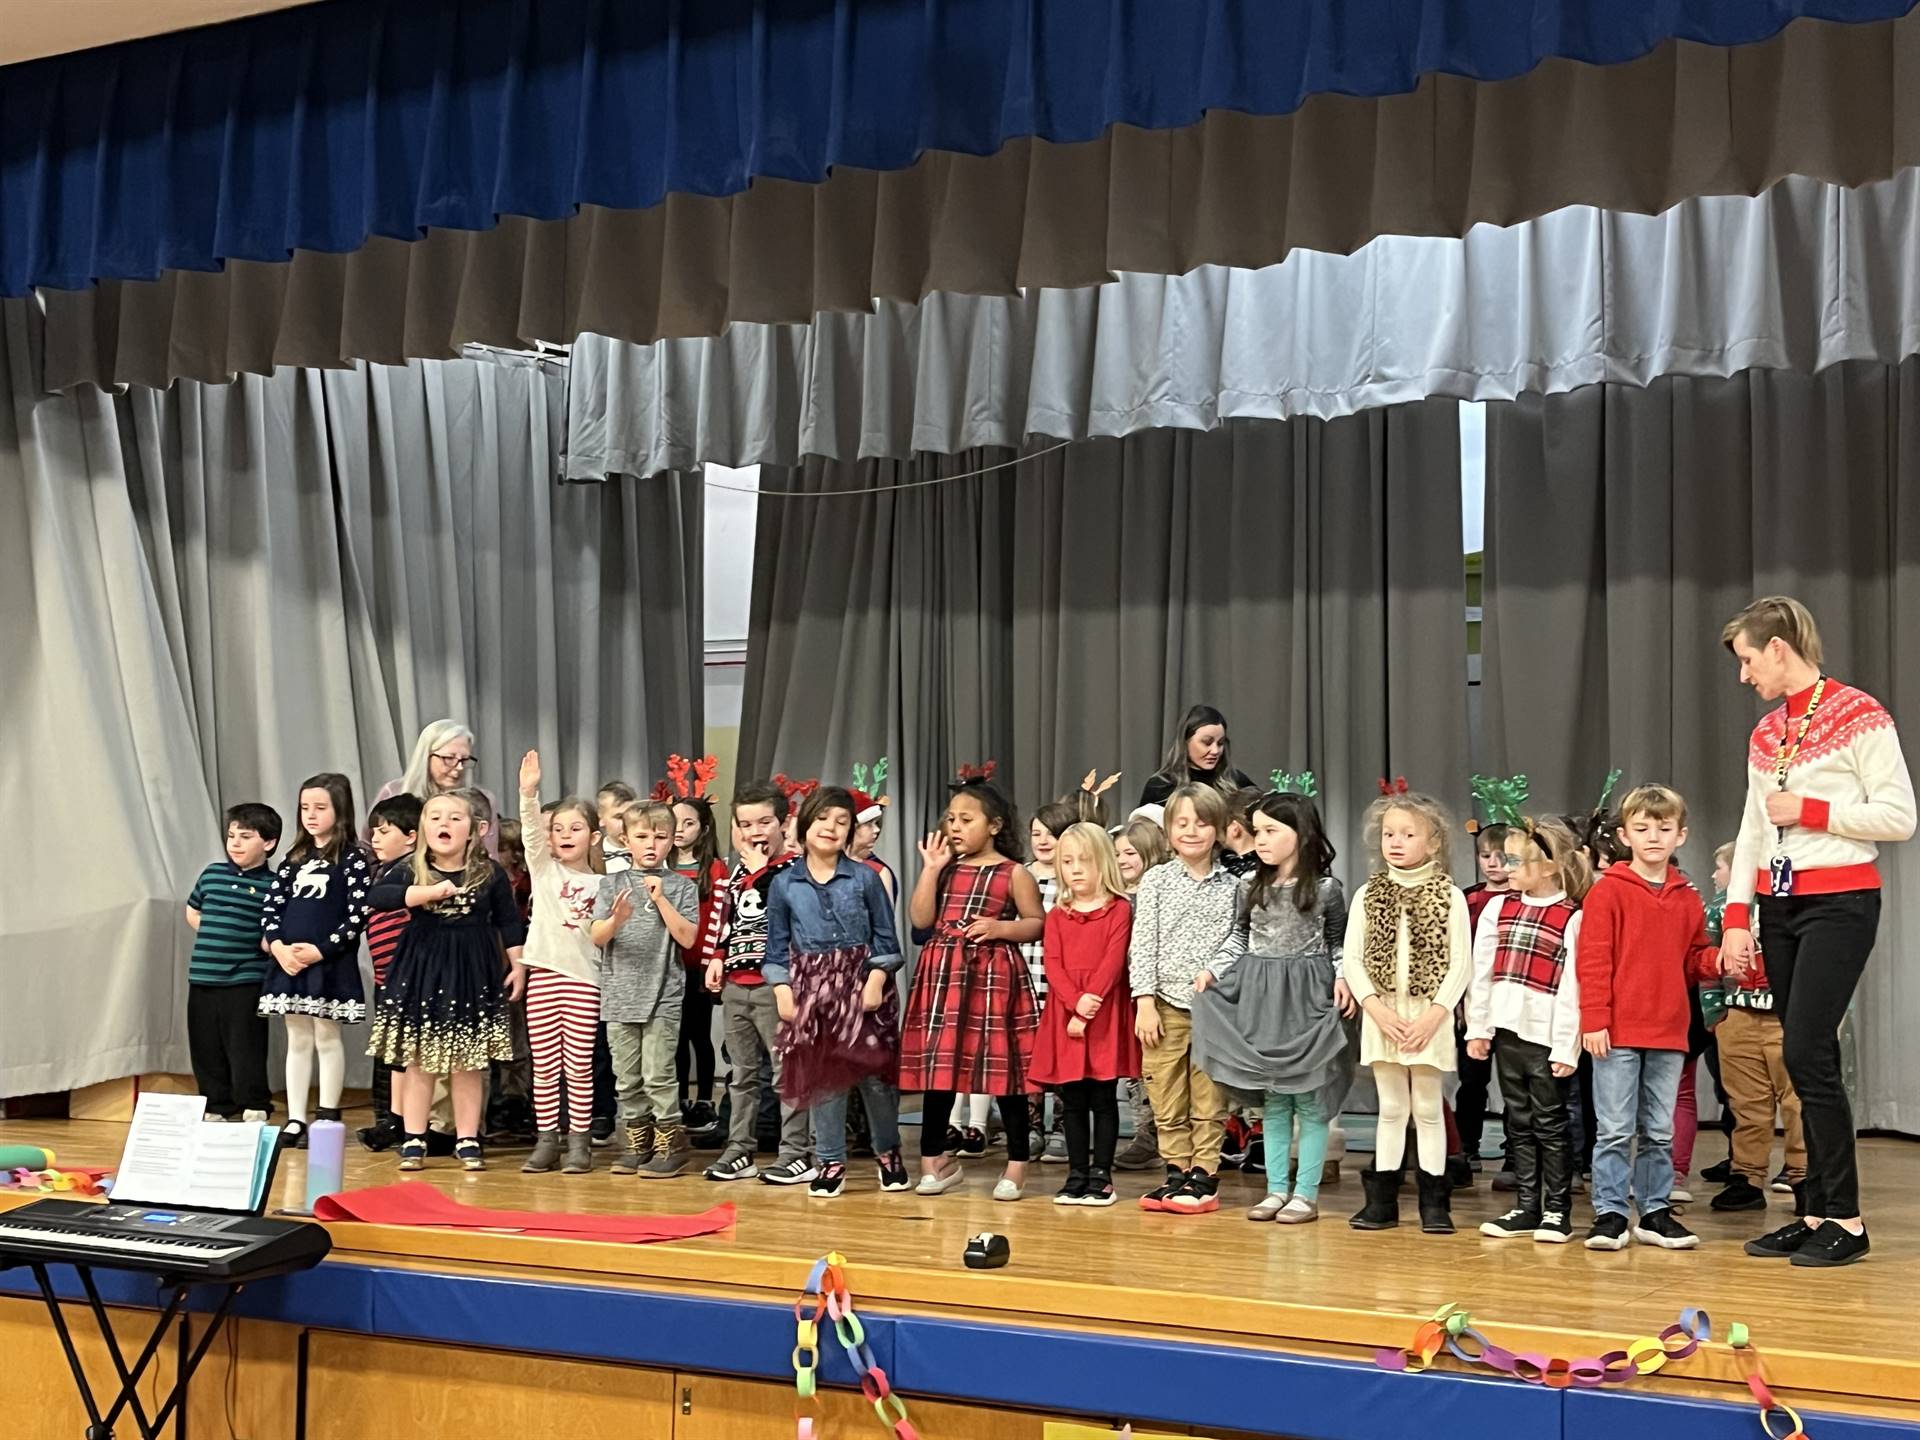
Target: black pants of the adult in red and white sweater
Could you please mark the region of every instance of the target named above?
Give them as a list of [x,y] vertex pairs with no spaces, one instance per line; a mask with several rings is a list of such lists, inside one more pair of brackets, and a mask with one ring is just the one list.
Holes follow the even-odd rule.
[[1780,1016],[1780,1058],[1801,1102],[1807,1131],[1809,1215],[1860,1213],[1853,1160],[1853,1108],[1839,1079],[1839,1021],[1866,970],[1880,931],[1880,891],[1761,897],[1766,981]]

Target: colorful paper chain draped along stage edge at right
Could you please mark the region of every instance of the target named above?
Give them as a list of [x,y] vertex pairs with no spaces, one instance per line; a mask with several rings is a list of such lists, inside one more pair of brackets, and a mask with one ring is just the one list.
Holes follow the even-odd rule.
[[[1686,1359],[1711,1338],[1713,1319],[1705,1309],[1690,1306],[1680,1311],[1678,1321],[1657,1336],[1649,1334],[1628,1340],[1624,1350],[1609,1350],[1592,1359],[1557,1359],[1536,1352],[1517,1354],[1496,1346],[1473,1329],[1473,1315],[1465,1306],[1446,1304],[1413,1332],[1409,1346],[1404,1350],[1377,1350],[1373,1363],[1382,1371],[1419,1375],[1446,1350],[1465,1365],[1486,1365],[1528,1384],[1544,1384],[1549,1390],[1590,1390],[1603,1384],[1626,1384],[1632,1379],[1653,1375],[1670,1359]],[[1753,1348],[1747,1327],[1738,1321],[1728,1325],[1726,1344],[1745,1352],[1751,1361],[1747,1365],[1747,1390],[1753,1392],[1753,1400],[1761,1407],[1761,1428],[1768,1440],[1807,1440],[1799,1413],[1782,1400],[1776,1400],[1772,1388],[1766,1384],[1761,1352]],[[1786,1421],[1786,1430],[1774,1428],[1776,1415]]]

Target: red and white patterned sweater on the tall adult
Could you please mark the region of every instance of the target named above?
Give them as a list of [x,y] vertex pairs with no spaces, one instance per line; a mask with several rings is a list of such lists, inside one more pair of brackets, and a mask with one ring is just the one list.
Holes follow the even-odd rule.
[[1914,785],[1893,716],[1866,691],[1828,680],[1788,770],[1788,791],[1805,803],[1801,822],[1776,835],[1766,820],[1766,797],[1780,789],[1774,764],[1799,735],[1811,695],[1801,691],[1770,710],[1747,743],[1747,808],[1734,843],[1726,929],[1751,927],[1749,904],[1757,891],[1768,889],[1766,866],[1774,854],[1793,862],[1795,895],[1878,889],[1880,845],[1914,833]]

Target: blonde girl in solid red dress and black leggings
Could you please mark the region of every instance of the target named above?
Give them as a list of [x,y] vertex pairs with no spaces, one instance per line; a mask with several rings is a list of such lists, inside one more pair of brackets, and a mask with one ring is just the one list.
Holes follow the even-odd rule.
[[1127,1006],[1125,897],[1114,843],[1092,824],[1073,824],[1054,851],[1060,895],[1046,912],[1048,1000],[1027,1079],[1058,1091],[1068,1183],[1056,1206],[1114,1204],[1119,1144],[1116,1081],[1140,1073],[1140,1044]]

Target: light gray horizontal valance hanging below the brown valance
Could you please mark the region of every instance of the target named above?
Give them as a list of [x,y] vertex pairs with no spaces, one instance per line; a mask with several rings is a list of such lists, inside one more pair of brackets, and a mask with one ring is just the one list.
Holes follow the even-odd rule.
[[1920,349],[1916,221],[1920,171],[1857,190],[1788,179],[1661,215],[1574,205],[1463,240],[1298,250],[1267,269],[937,292],[651,346],[580,336],[568,472],[906,459],[1430,396],[1899,363]]

